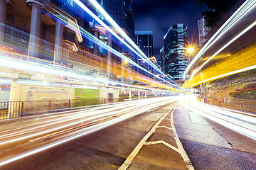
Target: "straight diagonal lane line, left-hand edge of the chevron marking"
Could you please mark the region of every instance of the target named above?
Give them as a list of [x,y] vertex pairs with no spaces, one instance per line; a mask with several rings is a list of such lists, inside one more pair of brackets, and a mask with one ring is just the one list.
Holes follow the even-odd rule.
[[154,126],[153,128],[151,128],[151,130],[143,137],[143,139],[139,142],[139,144],[137,145],[137,147],[134,148],[134,150],[132,151],[131,154],[129,154],[129,157],[127,157],[127,159],[124,161],[124,163],[122,164],[122,166],[119,167],[118,170],[126,170],[130,164],[132,164],[132,160],[134,159],[134,157],[136,157],[136,155],[139,153],[139,150],[142,149],[143,145],[145,144],[146,140],[149,139],[149,137],[156,132],[156,128],[158,127],[158,125],[161,123],[162,120],[164,120],[164,118],[166,117],[166,115],[168,115],[171,111],[168,111]]

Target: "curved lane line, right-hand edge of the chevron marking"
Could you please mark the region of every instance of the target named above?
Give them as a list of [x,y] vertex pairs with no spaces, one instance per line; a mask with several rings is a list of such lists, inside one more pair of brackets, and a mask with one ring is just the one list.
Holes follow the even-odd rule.
[[186,167],[188,170],[194,170],[194,167],[191,163],[191,160],[188,158],[188,155],[186,154],[185,149],[183,148],[183,145],[181,143],[181,141],[178,138],[178,133],[176,132],[176,128],[174,126],[174,111],[176,110],[176,108],[174,108],[173,111],[171,111],[171,127],[173,128],[173,132],[174,132],[174,140],[176,141],[176,144],[178,146],[178,150],[181,154],[181,157],[183,158]]

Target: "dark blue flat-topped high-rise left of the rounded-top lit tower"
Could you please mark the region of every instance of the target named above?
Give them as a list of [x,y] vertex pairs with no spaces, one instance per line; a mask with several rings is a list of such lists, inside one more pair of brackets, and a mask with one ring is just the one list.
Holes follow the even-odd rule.
[[[153,32],[152,31],[135,31],[136,44],[144,54],[151,58],[153,57]],[[144,69],[151,72],[152,68],[149,64],[146,64],[145,60],[139,59],[138,64]],[[151,77],[149,73],[144,72],[142,69],[139,69],[139,73],[144,74],[147,77]]]

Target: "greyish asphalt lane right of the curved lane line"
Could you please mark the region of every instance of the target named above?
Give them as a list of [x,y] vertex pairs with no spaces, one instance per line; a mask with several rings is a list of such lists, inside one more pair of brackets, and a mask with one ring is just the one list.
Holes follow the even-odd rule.
[[182,106],[174,122],[194,169],[256,169],[256,141]]

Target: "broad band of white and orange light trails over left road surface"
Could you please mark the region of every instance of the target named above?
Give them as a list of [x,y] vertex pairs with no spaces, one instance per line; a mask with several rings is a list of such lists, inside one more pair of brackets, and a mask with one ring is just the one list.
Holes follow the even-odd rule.
[[[58,128],[58,130],[55,130],[55,131],[53,130],[52,132],[48,130],[48,129],[52,129],[52,126],[48,127],[48,129],[43,130],[45,131],[45,133],[43,133],[43,131],[41,132],[40,130],[39,132],[37,132],[37,130],[31,129],[31,133],[35,133],[35,135],[33,135],[33,137],[35,138],[31,136],[25,137],[26,139],[30,138],[29,140],[26,140],[26,141],[23,140],[24,139],[23,135],[20,135],[19,137],[17,136],[15,137],[15,138],[20,138],[21,140],[12,140],[10,136],[10,138],[5,139],[6,141],[10,141],[10,140],[12,141],[12,142],[9,142],[9,145],[0,145],[1,147],[0,166],[3,166],[4,164],[9,164],[11,162],[14,162],[18,159],[22,159],[24,157],[28,157],[38,152],[43,152],[46,149],[50,149],[52,147],[56,147],[60,144],[63,144],[65,142],[78,139],[79,137],[88,135],[92,132],[96,132],[97,130],[102,130],[103,128],[107,128],[110,125],[119,123],[122,120],[126,120],[127,118],[132,118],[134,115],[144,113],[146,111],[149,111],[151,109],[157,108],[159,106],[162,106],[166,103],[170,103],[173,101],[177,101],[177,98],[176,97],[150,98],[150,99],[139,100],[134,102],[126,102],[126,103],[120,103],[120,104],[117,103],[117,104],[113,104],[112,106],[104,106],[104,107],[109,107],[109,109],[114,109],[115,111],[113,112],[111,112],[110,110],[105,111],[105,109],[102,109],[104,107],[87,109],[86,111],[81,111],[80,113],[78,113],[78,115],[81,115],[82,113],[86,113],[84,117],[78,116],[77,120],[74,120],[74,122],[76,122],[77,124],[73,123],[73,125],[75,125],[77,128],[70,127],[72,123],[63,123],[61,125],[58,125],[58,124],[55,125],[57,126],[57,128],[58,127],[63,127],[63,128]],[[119,109],[115,108],[116,106],[119,107]],[[91,114],[89,115],[90,118],[88,118],[87,113],[90,113],[90,112],[91,112]],[[70,113],[70,115],[71,114],[72,113]],[[59,116],[60,117],[63,116],[63,118],[66,118],[67,120],[70,118],[70,116],[65,117],[65,113],[60,114]],[[73,113],[73,116],[77,117],[76,113]],[[48,118],[43,118],[43,121],[45,123],[48,123]],[[92,124],[91,125],[86,124],[89,122]],[[26,123],[25,120],[24,120],[24,123]],[[34,126],[34,128],[37,128],[38,126],[36,120],[34,121],[34,123],[31,122],[31,120],[29,120],[29,123],[31,124],[31,127]],[[81,123],[85,123],[82,125],[87,125],[87,126],[85,128],[80,127],[79,125],[81,125]],[[14,124],[14,126],[15,125],[20,125],[20,123]],[[0,124],[0,126],[4,126],[4,125]],[[14,128],[14,127],[10,126],[9,128],[11,130],[11,128]],[[46,131],[48,131],[49,133],[46,134]],[[49,137],[49,135],[50,135],[50,139],[43,140],[44,138]],[[4,144],[4,142],[1,142],[1,144]],[[14,146],[22,145],[23,147],[20,147],[20,149],[11,152],[12,145]],[[31,149],[28,149],[26,146],[29,146],[29,148]],[[14,149],[16,149],[16,147],[14,147]],[[5,154],[6,152],[13,153],[13,155]]]

